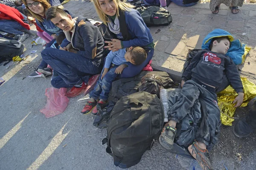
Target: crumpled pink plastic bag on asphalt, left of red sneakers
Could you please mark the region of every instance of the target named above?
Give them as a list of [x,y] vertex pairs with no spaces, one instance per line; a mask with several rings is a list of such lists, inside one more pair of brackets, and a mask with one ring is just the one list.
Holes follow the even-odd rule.
[[67,88],[47,88],[45,96],[47,96],[47,103],[40,110],[46,118],[56,116],[65,111],[69,99],[66,96]]

